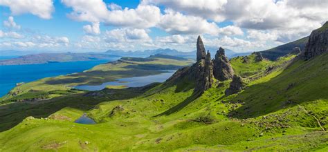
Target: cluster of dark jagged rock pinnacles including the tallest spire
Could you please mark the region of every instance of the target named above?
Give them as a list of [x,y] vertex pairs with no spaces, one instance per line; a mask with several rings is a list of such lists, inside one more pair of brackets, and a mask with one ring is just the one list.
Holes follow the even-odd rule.
[[203,91],[211,88],[215,83],[215,78],[219,81],[233,79],[233,68],[230,66],[229,60],[224,53],[223,48],[217,50],[215,59],[212,60],[210,52],[205,52],[201,37],[197,38],[197,62],[192,66],[177,70],[172,77],[167,79],[165,83],[176,84],[182,79],[188,79],[195,83],[194,91],[203,93]]

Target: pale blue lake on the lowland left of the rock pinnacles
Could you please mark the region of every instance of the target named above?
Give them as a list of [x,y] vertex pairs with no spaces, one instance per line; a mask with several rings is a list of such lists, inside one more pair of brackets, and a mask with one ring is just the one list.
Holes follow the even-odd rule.
[[75,88],[86,90],[86,91],[100,91],[106,86],[127,86],[127,87],[139,87],[145,86],[147,84],[152,84],[154,82],[165,82],[166,79],[174,74],[175,70],[169,70],[167,73],[161,73],[158,75],[147,75],[143,77],[127,77],[122,79],[117,79],[116,82],[104,82],[100,85],[81,85],[75,86]]

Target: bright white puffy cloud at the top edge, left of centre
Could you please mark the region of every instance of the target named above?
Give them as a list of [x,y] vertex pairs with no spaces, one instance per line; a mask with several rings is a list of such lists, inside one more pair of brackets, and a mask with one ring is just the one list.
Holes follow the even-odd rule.
[[64,5],[73,8],[68,17],[76,21],[103,22],[111,26],[134,28],[149,28],[158,23],[161,11],[156,6],[139,5],[135,9],[118,9],[117,5],[106,3],[102,0],[80,1],[62,0]]

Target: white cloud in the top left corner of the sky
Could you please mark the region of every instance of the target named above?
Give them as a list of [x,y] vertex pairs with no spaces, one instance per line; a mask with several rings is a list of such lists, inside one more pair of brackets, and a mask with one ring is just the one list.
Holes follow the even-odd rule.
[[42,19],[51,19],[54,10],[52,0],[0,0],[0,6],[9,7],[12,15],[30,13]]

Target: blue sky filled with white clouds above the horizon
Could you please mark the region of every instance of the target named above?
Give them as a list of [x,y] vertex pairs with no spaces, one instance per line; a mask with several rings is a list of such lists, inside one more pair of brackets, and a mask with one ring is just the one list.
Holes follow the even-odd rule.
[[266,50],[310,35],[327,0],[0,0],[0,50]]

